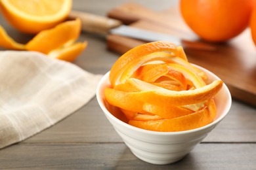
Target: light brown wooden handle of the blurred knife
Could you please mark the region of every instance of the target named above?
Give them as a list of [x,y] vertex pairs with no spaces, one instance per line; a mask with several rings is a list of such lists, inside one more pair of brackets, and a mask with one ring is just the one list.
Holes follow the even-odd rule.
[[70,12],[68,18],[80,18],[82,23],[82,30],[90,33],[108,34],[110,29],[121,25],[119,20],[75,10]]

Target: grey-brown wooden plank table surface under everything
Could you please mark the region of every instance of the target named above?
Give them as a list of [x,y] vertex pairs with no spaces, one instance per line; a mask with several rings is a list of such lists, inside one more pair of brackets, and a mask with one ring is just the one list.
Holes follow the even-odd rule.
[[[102,16],[127,1],[78,1],[73,9]],[[177,1],[144,0],[154,10]],[[161,3],[160,3],[161,2]],[[0,23],[16,41],[30,35],[18,33],[0,16]],[[95,74],[110,70],[119,57],[106,49],[102,35],[82,33],[79,41],[89,46],[74,61]],[[256,108],[233,99],[229,114],[190,154],[177,163],[153,165],[139,160],[114,131],[96,97],[58,124],[17,144],[0,150],[0,169],[256,169]]]

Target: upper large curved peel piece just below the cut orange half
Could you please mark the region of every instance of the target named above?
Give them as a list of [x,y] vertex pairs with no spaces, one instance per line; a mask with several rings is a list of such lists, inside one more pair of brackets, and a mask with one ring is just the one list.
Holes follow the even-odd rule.
[[45,29],[35,35],[32,40],[26,44],[30,51],[42,52],[48,54],[56,48],[61,48],[65,44],[73,43],[80,35],[81,20],[70,20],[56,25],[51,29]]

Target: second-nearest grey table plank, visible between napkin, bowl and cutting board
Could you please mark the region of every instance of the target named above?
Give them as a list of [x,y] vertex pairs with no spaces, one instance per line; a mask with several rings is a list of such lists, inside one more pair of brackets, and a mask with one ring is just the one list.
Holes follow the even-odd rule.
[[[233,101],[224,120],[204,139],[207,143],[256,142],[255,108]],[[23,143],[121,143],[96,98],[58,124]]]

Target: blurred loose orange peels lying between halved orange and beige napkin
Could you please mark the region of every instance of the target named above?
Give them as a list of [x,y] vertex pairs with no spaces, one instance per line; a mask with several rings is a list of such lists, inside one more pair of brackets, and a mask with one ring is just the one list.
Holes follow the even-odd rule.
[[74,61],[87,47],[87,41],[75,42],[80,33],[81,20],[77,18],[40,31],[28,43],[20,44],[14,41],[0,25],[0,46],[9,50],[42,52],[50,58]]

